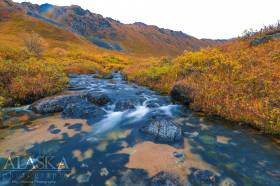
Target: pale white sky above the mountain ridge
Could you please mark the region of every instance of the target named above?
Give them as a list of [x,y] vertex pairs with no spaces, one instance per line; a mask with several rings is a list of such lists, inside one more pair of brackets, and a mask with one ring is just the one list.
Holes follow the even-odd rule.
[[[23,2],[23,0],[15,0]],[[227,39],[280,20],[280,0],[27,0],[80,5],[123,23],[144,22],[198,38]]]

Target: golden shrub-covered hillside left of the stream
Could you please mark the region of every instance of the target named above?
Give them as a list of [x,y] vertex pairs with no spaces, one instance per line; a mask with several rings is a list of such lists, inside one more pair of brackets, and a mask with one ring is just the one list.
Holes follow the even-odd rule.
[[59,92],[66,73],[120,69],[125,58],[1,1],[0,104],[27,103]]

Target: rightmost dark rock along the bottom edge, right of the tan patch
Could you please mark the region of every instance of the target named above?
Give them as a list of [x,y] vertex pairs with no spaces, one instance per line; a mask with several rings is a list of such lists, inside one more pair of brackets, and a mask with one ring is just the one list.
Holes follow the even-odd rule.
[[189,181],[192,185],[216,186],[219,185],[219,177],[209,170],[193,169],[189,175]]

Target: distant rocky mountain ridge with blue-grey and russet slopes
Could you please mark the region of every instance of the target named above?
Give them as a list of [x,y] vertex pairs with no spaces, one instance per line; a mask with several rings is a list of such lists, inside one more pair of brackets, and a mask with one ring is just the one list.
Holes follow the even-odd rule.
[[84,36],[100,47],[128,54],[174,56],[185,50],[198,50],[223,42],[200,40],[183,32],[140,22],[123,24],[76,5],[37,5],[23,2],[20,6],[29,16]]

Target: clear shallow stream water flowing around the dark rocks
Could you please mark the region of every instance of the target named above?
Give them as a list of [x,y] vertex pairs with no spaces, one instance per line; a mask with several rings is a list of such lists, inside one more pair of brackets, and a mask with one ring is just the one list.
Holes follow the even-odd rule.
[[[119,74],[112,80],[71,76],[70,85],[67,92],[108,94],[113,101],[102,107],[107,114],[87,121],[63,119],[59,113],[42,116],[28,107],[5,109],[4,126],[8,127],[0,129],[0,185],[10,185],[11,181],[29,185],[146,185],[161,171],[192,184],[197,169],[216,174],[217,185],[280,183],[277,139],[193,113],[174,105],[169,97],[123,81]],[[114,112],[115,103],[121,99],[133,100],[135,108]],[[149,108],[150,103],[157,106]],[[155,115],[172,118],[180,125],[183,142],[162,144],[140,133],[139,128]],[[3,169],[9,156],[15,158],[14,165],[8,163],[9,169]],[[38,157],[52,157],[55,168],[60,163],[64,168],[32,167]],[[32,169],[30,174],[26,169]]]

